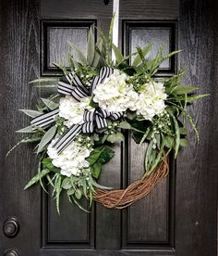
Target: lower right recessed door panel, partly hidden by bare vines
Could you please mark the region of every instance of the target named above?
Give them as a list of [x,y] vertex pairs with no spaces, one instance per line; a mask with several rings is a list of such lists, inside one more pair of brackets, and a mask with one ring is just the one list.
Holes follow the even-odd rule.
[[[129,143],[128,183],[140,179],[144,173],[145,146],[139,147],[133,140]],[[140,243],[148,244],[168,242],[168,200],[169,183],[164,179],[151,193],[127,209],[127,247]]]

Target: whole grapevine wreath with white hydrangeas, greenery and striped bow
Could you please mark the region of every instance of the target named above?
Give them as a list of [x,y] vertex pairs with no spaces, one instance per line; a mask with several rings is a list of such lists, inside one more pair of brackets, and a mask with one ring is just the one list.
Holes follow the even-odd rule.
[[[95,43],[91,28],[86,56],[68,42],[74,52],[68,54],[70,70],[55,64],[63,71],[58,81],[30,82],[55,86],[58,94],[41,98],[36,110],[21,109],[32,120],[18,131],[29,134],[19,143],[37,142],[34,152],[39,156],[38,172],[25,189],[36,183],[45,191],[45,185],[51,186],[58,212],[62,193],[80,209],[81,198],[90,206],[93,200],[107,208],[129,206],[167,175],[169,154],[174,151],[176,158],[179,147],[188,146],[187,121],[199,138],[187,106],[206,95],[195,95],[198,88],[182,85],[181,71],[170,78],[155,76],[160,64],[179,51],[164,56],[161,46],[155,58],[148,59],[152,45],[146,45],[124,56],[112,43],[112,31],[113,22],[109,35],[100,32]],[[125,140],[125,131],[139,146],[148,144],[143,177],[124,189],[100,185],[103,164],[114,157],[113,144]]]

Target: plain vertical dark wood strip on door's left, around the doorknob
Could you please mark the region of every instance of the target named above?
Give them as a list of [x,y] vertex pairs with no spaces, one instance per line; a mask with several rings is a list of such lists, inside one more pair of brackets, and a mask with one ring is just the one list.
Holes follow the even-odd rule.
[[[15,130],[28,124],[28,118],[18,112],[27,109],[37,94],[29,86],[39,75],[39,4],[38,1],[1,1],[1,179],[0,222],[17,216],[18,237],[8,239],[0,232],[0,254],[6,249],[18,249],[20,255],[36,255],[40,248],[41,199],[40,188],[27,193],[23,187],[35,173],[36,161],[32,147],[18,147],[7,158],[6,151],[20,139]],[[24,246],[25,245],[25,246]]]

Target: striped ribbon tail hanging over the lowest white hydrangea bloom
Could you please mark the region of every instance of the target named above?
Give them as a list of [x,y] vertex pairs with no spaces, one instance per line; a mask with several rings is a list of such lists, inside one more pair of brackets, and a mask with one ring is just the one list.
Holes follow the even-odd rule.
[[77,134],[81,132],[81,125],[75,124],[73,125],[67,134],[61,136],[54,144],[54,148],[56,149],[57,153],[60,154],[76,137]]

